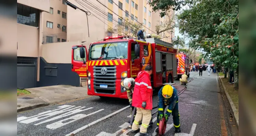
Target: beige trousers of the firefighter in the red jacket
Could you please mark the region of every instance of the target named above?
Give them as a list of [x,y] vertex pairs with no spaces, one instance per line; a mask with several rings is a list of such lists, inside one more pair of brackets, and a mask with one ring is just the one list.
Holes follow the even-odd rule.
[[142,120],[142,125],[140,126],[140,133],[146,133],[151,117],[152,115],[150,109],[143,109],[137,107],[137,113],[132,124],[132,130],[138,130],[139,122],[140,120]]

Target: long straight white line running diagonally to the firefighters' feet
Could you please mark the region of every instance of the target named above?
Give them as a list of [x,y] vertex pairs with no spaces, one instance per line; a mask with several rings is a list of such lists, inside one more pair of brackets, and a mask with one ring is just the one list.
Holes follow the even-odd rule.
[[111,114],[109,114],[109,115],[107,115],[107,116],[105,116],[105,117],[102,117],[102,118],[100,118],[100,119],[98,119],[98,120],[96,120],[96,121],[93,121],[93,122],[91,122],[91,123],[85,125],[85,126],[82,126],[81,128],[79,128],[79,129],[77,129],[77,130],[75,130],[75,131],[73,131],[73,132],[67,134],[66,136],[70,136],[71,134],[76,134],[76,133],[78,133],[79,131],[82,131],[82,130],[86,129],[88,126],[94,125],[94,124],[96,124],[96,123],[98,123],[98,122],[100,122],[100,121],[102,121],[102,120],[104,120],[104,119],[106,119],[106,118],[109,118],[109,117],[111,117],[111,116],[113,116],[113,115],[115,115],[115,114],[117,114],[117,113],[123,111],[124,109],[129,108],[129,107],[130,107],[130,105],[128,105],[128,106],[126,106],[126,107],[124,107],[124,108],[121,108],[121,109],[119,109],[119,110],[116,111],[116,112],[113,112],[113,113],[111,113]]

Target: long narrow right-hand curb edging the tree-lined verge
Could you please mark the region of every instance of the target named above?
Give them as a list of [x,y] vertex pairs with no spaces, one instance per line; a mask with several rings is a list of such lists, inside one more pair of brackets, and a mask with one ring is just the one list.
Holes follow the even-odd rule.
[[223,85],[222,79],[220,77],[219,77],[219,79],[221,81],[221,85],[222,85],[222,87],[224,89],[225,95],[226,95],[226,97],[228,99],[228,103],[229,103],[229,105],[231,107],[231,113],[232,113],[232,115],[233,115],[233,117],[235,119],[235,123],[237,124],[237,129],[238,129],[239,128],[239,115],[237,114],[237,108],[235,108],[235,105],[234,105],[232,99],[230,98],[230,96],[229,96],[229,94],[227,92],[226,87]]

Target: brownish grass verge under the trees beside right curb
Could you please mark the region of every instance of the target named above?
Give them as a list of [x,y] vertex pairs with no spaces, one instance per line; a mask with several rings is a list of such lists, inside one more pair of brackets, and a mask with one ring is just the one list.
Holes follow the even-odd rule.
[[228,92],[229,96],[231,97],[231,99],[232,99],[232,101],[235,105],[235,108],[237,108],[237,111],[238,111],[238,109],[239,109],[239,104],[238,104],[239,91],[234,89],[234,84],[229,84],[228,83],[229,78],[222,78],[222,81],[223,81],[224,86],[227,89],[227,92]]

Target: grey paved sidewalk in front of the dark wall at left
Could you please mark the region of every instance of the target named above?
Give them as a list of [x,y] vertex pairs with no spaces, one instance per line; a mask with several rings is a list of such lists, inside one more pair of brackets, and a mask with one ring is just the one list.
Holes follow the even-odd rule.
[[17,96],[17,112],[87,96],[87,87],[55,85],[26,89],[28,95]]

